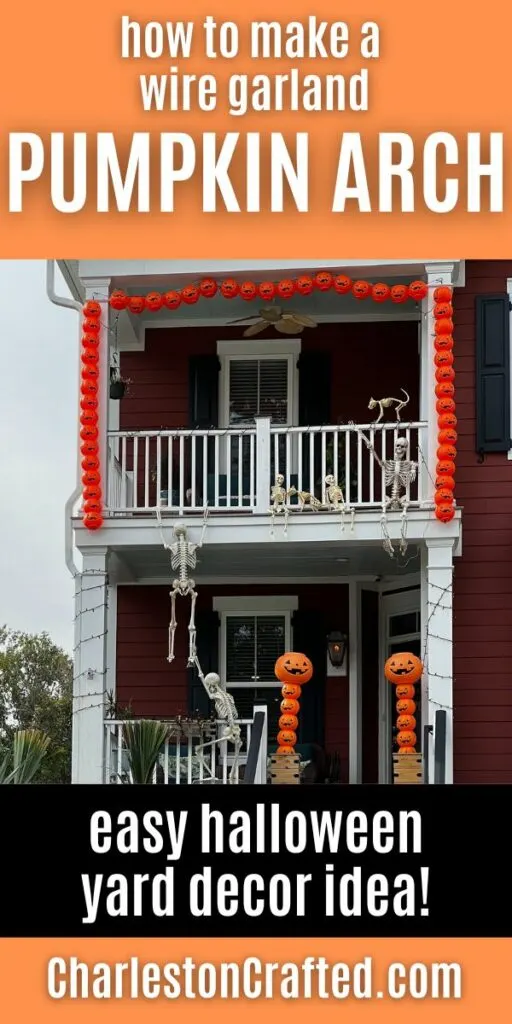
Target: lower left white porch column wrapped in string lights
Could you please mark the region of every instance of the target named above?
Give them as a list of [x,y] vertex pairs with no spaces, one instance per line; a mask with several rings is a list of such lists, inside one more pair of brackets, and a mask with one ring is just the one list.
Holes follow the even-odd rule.
[[106,548],[91,548],[75,580],[72,782],[103,781],[106,594]]

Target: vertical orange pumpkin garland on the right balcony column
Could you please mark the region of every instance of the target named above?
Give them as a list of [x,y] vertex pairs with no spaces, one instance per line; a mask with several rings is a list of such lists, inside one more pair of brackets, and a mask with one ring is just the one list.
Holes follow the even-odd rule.
[[437,465],[435,470],[435,515],[450,522],[455,515],[455,470],[457,416],[454,370],[453,289],[443,285],[434,291],[434,364],[437,412]]

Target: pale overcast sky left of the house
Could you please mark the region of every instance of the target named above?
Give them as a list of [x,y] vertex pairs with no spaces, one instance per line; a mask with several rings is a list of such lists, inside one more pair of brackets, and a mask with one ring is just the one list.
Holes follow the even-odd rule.
[[[55,290],[69,296],[57,270]],[[78,313],[44,260],[0,260],[0,624],[73,648],[65,505],[76,482]]]

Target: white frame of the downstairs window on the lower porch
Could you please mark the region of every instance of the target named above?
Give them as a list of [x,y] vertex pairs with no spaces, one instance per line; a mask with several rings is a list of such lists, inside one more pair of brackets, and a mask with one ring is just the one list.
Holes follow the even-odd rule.
[[[229,617],[240,618],[243,615],[281,615],[285,620],[285,651],[292,646],[292,614],[299,607],[298,597],[215,597],[213,599],[213,610],[220,616],[220,678],[226,678],[227,657],[226,657],[226,623]],[[275,682],[254,682],[247,680],[244,683],[226,683],[228,690],[245,690],[253,686],[255,689],[275,689],[281,683]]]

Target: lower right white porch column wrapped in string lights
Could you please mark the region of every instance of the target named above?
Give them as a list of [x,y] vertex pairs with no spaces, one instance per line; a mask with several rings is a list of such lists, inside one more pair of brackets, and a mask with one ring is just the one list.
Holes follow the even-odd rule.
[[[423,722],[435,727],[435,713],[446,712],[446,783],[454,781],[454,542],[426,542],[422,573],[422,650],[426,687]],[[429,741],[429,782],[434,781],[434,734]]]

